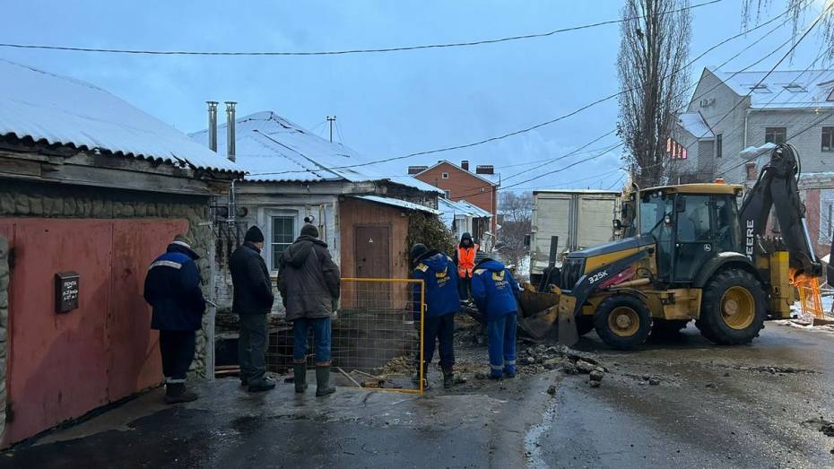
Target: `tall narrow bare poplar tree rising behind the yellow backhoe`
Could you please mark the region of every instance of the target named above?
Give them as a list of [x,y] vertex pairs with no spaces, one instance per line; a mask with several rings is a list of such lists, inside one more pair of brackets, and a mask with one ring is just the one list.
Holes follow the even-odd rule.
[[689,79],[686,66],[691,37],[689,0],[626,0],[622,9],[620,120],[626,143],[623,157],[640,187],[668,176],[666,140],[675,113],[683,107]]

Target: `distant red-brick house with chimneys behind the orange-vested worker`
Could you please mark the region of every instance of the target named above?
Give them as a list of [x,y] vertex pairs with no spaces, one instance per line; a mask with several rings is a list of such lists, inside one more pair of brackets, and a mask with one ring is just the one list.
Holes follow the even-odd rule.
[[[491,213],[489,231],[479,233],[478,240],[484,248],[491,248],[498,230],[498,188],[501,176],[492,165],[478,165],[474,172],[469,161],[460,166],[449,161],[438,161],[431,167],[410,166],[408,174],[434,187],[439,187],[445,197],[453,202],[466,201]],[[474,234],[473,234],[474,236]]]

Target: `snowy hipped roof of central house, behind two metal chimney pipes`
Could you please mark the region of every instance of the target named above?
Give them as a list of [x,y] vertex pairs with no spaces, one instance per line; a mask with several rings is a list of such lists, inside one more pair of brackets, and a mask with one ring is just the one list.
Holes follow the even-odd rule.
[[[272,111],[256,112],[235,120],[235,157],[251,181],[391,181],[424,191],[437,191],[408,177],[387,177],[341,143],[330,142]],[[190,134],[208,145],[208,131]],[[217,148],[226,148],[226,124],[218,126]],[[363,165],[363,166],[356,166]]]

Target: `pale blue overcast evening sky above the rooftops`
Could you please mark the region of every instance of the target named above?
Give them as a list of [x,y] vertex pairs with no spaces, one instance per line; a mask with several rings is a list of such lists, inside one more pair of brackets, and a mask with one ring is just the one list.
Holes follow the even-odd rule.
[[[811,22],[823,0],[803,18]],[[761,22],[785,9],[772,0]],[[702,0],[691,0],[692,4]],[[347,2],[44,2],[4,5],[0,42],[88,48],[182,50],[334,50],[388,48],[540,33],[619,18],[622,2],[539,0],[352,0]],[[741,0],[693,10],[691,56],[743,30]],[[752,19],[755,25],[755,18]],[[751,26],[748,26],[751,27]],[[770,27],[727,43],[691,66],[704,66],[759,39]],[[790,38],[777,30],[723,70],[735,71]],[[133,56],[0,48],[0,58],[94,83],[183,132],[206,126],[205,100],[238,101],[238,117],[272,110],[372,160],[471,143],[560,117],[618,91],[617,24],[467,48],[345,56]],[[786,49],[785,49],[786,50]],[[819,55],[810,36],[779,69],[804,68]],[[751,70],[769,70],[782,53]],[[0,76],[0,85],[3,77]],[[220,120],[225,114],[221,112]],[[439,160],[492,164],[503,185],[533,188],[619,188],[621,150],[615,135],[534,169],[615,128],[617,100],[522,135],[473,148],[391,161],[383,172]]]

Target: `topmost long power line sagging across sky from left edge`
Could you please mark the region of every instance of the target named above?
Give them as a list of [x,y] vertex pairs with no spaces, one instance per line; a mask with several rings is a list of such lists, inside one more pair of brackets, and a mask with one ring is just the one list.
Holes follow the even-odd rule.
[[[670,12],[659,13],[656,16],[665,14],[678,13],[685,10],[694,10],[696,8],[707,6],[710,4],[721,3],[724,0],[709,0],[701,4],[693,4],[685,6]],[[105,54],[133,54],[133,55],[148,55],[148,56],[343,56],[350,54],[372,54],[372,53],[387,53],[387,52],[403,52],[409,50],[421,50],[431,48],[462,48],[471,46],[482,46],[486,44],[497,44],[500,42],[510,42],[524,39],[539,39],[547,38],[563,32],[570,32],[576,30],[587,30],[599,26],[606,26],[609,24],[619,24],[621,22],[629,22],[632,20],[639,20],[646,18],[647,15],[635,16],[631,18],[621,18],[620,20],[609,20],[604,22],[595,22],[590,24],[583,24],[579,26],[571,26],[569,28],[561,28],[559,30],[551,30],[542,33],[523,34],[519,36],[508,36],[497,39],[481,39],[465,42],[450,42],[443,44],[422,44],[418,46],[403,46],[397,48],[356,48],[344,50],[316,50],[316,51],[195,51],[195,50],[150,50],[150,49],[119,49],[119,48],[79,48],[69,46],[46,46],[41,44],[16,44],[16,43],[0,43],[3,48],[24,48],[24,49],[42,49],[42,50],[58,50],[64,52],[94,52]]]

